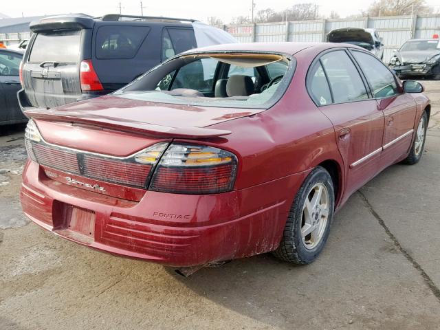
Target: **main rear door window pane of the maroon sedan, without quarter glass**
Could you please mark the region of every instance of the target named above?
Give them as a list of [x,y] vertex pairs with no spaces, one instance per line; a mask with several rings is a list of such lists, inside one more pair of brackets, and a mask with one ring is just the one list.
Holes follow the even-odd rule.
[[366,100],[369,95],[358,69],[343,50],[322,55],[321,63],[329,77],[335,103]]

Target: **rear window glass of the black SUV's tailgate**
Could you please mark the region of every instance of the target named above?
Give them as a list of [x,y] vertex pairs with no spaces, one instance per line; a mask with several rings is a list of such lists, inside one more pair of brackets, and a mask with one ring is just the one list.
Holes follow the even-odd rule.
[[29,62],[77,63],[82,30],[41,32],[36,35]]

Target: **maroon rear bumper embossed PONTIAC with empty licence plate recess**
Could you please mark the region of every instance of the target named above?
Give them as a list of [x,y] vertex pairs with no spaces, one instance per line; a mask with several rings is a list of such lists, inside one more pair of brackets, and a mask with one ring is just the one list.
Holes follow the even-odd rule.
[[[20,197],[32,221],[65,239],[111,254],[185,267],[275,250],[307,174],[216,195],[146,191],[140,202],[131,202],[60,184],[28,162]],[[78,219],[68,215],[74,214],[68,208],[93,211],[93,230],[72,230],[71,221]]]

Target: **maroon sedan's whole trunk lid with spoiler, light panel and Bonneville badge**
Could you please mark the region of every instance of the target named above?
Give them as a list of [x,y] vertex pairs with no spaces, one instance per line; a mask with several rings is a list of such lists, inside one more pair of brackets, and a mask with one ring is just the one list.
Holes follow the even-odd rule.
[[173,138],[206,140],[226,136],[231,132],[208,126],[259,111],[263,110],[102,96],[55,109],[27,111],[43,140],[27,139],[26,144],[47,180],[139,201],[154,167],[136,164],[135,155],[168,144]]

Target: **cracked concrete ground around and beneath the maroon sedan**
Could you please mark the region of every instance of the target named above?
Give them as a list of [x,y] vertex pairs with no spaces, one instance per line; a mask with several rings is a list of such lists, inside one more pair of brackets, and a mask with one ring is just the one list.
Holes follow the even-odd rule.
[[18,194],[23,127],[0,126],[0,329],[439,329],[440,82],[426,152],[355,193],[316,263],[270,255],[183,278],[60,239]]

